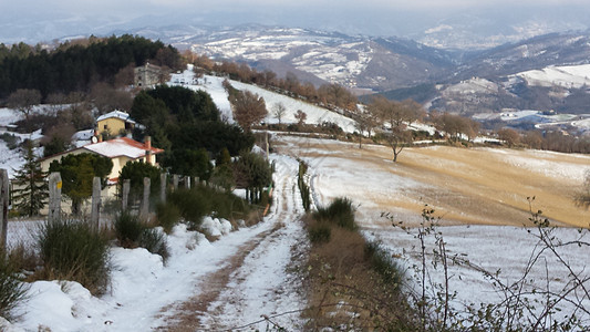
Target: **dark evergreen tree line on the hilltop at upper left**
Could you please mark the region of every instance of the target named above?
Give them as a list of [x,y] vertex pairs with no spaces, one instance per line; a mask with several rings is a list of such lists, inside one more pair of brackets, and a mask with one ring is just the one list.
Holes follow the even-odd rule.
[[130,34],[91,37],[53,50],[0,44],[0,100],[19,89],[37,90],[43,100],[55,93],[87,93],[99,82],[114,85],[124,75],[122,71],[147,61],[174,70],[183,68],[175,48]]

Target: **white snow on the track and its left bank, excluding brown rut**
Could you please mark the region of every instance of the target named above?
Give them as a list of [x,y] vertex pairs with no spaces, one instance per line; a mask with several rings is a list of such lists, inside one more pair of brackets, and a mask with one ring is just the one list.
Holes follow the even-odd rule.
[[[204,283],[206,277],[225,267],[248,242],[255,243],[253,250],[234,272],[231,283],[218,302],[207,313],[201,313],[203,319],[231,330],[260,320],[261,314],[279,314],[272,321],[286,326],[300,325],[299,312],[282,314],[306,305],[297,276],[288,270],[291,247],[304,246],[300,243],[304,239],[299,221],[302,208],[296,189],[298,163],[282,156],[273,156],[273,159],[277,163],[276,201],[263,222],[228,232],[226,220],[206,218],[209,230],[222,235],[215,242],[207,241],[201,234],[188,231],[180,224],[167,236],[170,258],[166,264],[159,256],[145,249],[114,247],[108,293],[96,298],[71,281],[33,282],[30,299],[17,310],[20,319],[10,329],[148,331],[165,326],[167,315],[161,310],[203,292],[208,287]],[[270,236],[262,236],[267,232]],[[251,326],[265,329],[266,323]]]

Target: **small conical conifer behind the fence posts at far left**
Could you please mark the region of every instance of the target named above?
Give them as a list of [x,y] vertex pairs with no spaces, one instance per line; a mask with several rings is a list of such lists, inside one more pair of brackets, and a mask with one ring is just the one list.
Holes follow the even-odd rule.
[[45,180],[46,173],[41,170],[41,164],[34,156],[30,141],[24,149],[24,165],[14,176],[12,199],[21,215],[37,216],[46,204],[49,186]]

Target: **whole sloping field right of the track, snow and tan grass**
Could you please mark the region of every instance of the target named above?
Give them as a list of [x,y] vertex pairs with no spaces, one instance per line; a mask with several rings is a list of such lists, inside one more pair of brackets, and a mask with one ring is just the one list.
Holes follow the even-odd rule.
[[[420,264],[421,261],[420,242],[414,236],[394,228],[389,219],[381,216],[382,212],[391,214],[396,222],[404,221],[406,226],[417,226],[422,220],[422,208],[424,204],[428,204],[436,209],[435,216],[442,217],[442,226],[437,228],[437,231],[442,232],[447,243],[448,256],[468,260],[472,264],[489,272],[499,270],[499,280],[509,284],[525,276],[531,255],[540,249],[534,236],[537,229],[521,227],[527,224],[530,215],[527,212],[526,196],[522,197],[524,194],[519,194],[518,190],[525,188],[530,190],[529,193],[536,193],[538,197],[535,204],[541,205],[546,201],[557,204],[542,207],[549,212],[555,206],[565,204],[553,201],[552,196],[548,198],[546,193],[552,190],[568,193],[561,191],[565,188],[557,188],[549,184],[553,180],[556,184],[561,183],[569,187],[569,193],[573,193],[576,188],[573,184],[580,184],[586,169],[590,167],[590,158],[582,155],[509,149],[448,151],[448,147],[404,151],[400,156],[401,163],[395,165],[386,159],[387,151],[382,147],[365,146],[361,151],[354,144],[328,139],[276,138],[279,141],[277,145],[280,152],[300,157],[310,165],[310,183],[315,205],[327,205],[335,197],[351,198],[353,205],[356,206],[356,217],[363,234],[389,248],[397,257],[397,261],[405,267],[408,278],[415,277],[413,267]],[[444,156],[448,156],[447,159]],[[469,164],[469,160],[473,164]],[[435,173],[432,173],[428,164],[434,165]],[[500,169],[495,173],[486,167]],[[515,173],[516,178],[528,178],[531,174],[534,176],[530,181],[515,183],[509,168]],[[453,170],[458,169],[468,174],[464,176],[470,181],[460,183],[464,179],[453,174]],[[497,177],[503,174],[505,178]],[[486,181],[487,178],[491,180]],[[497,185],[501,187],[493,188]],[[477,190],[463,190],[457,186],[474,187]],[[446,190],[445,194],[441,194],[436,200],[437,195],[433,193],[443,193],[443,189]],[[504,197],[499,197],[495,203],[488,200],[491,199],[489,197],[485,199],[478,197],[500,194],[505,197],[518,197],[519,205],[511,206],[508,199],[501,199]],[[453,205],[445,206],[448,197],[460,197],[460,199]],[[478,200],[475,210],[472,210],[469,201],[474,199]],[[485,205],[491,204],[494,208],[486,209]],[[588,211],[576,208],[571,201],[567,205],[567,209],[575,210],[576,214],[571,217],[566,214],[560,215],[565,218],[560,219],[561,224],[580,221],[580,225],[587,227],[590,225]],[[507,219],[499,220],[500,217]],[[516,227],[509,225],[516,225]],[[529,234],[528,230],[531,232]],[[411,229],[414,235],[416,231],[415,228]],[[563,242],[578,239],[580,236],[582,240],[590,241],[588,231],[580,235],[576,228],[559,228],[553,235],[556,239]],[[427,238],[428,259],[433,258],[433,249],[434,237],[431,237]],[[558,248],[558,252],[576,273],[582,278],[590,277],[588,247]],[[561,291],[566,287],[565,282],[570,280],[570,271],[557,261],[556,256],[550,251],[544,252],[539,260],[539,263],[527,276],[530,284],[525,289],[538,288],[538,291],[549,287],[553,292]],[[428,269],[431,269],[428,277],[431,282],[443,283],[441,267],[435,271],[428,263]],[[499,303],[501,300],[503,293],[497,292],[498,289],[474,268],[449,264],[449,291],[457,292],[457,298],[453,301],[453,305],[457,309],[472,303],[476,307],[479,307],[479,303]],[[411,283],[407,286],[415,287]],[[589,299],[584,294],[576,293],[567,299],[576,300],[577,297],[580,297],[587,310],[590,309]],[[563,314],[571,313],[571,305],[562,302],[559,307],[563,309]],[[587,324],[590,323],[590,315],[583,312],[578,312],[578,314],[582,314]]]

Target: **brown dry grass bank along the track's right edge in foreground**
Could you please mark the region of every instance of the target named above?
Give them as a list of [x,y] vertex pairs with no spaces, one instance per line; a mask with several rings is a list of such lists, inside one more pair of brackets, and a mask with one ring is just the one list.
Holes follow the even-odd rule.
[[[308,227],[313,222],[308,218]],[[394,286],[385,284],[372,270],[365,246],[358,231],[335,226],[329,242],[312,245],[306,329],[413,330],[407,304]]]

